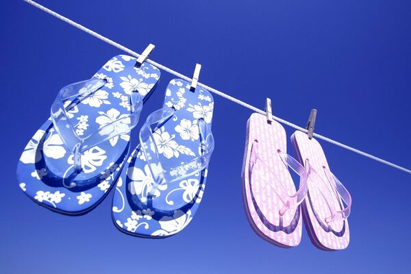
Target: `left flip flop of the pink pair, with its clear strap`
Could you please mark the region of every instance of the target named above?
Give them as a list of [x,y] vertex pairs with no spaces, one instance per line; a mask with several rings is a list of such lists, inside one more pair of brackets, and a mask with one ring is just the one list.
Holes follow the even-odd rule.
[[[296,192],[289,169],[300,176]],[[299,203],[307,193],[308,173],[286,154],[286,132],[266,116],[251,114],[242,164],[242,197],[247,219],[258,236],[279,247],[301,241]]]

